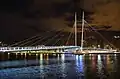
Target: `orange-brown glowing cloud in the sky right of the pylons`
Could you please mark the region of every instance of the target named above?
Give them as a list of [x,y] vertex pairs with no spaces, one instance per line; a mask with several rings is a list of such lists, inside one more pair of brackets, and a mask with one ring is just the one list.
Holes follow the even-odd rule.
[[112,26],[109,30],[120,31],[119,0],[84,0],[85,10],[94,12],[92,23],[97,26]]

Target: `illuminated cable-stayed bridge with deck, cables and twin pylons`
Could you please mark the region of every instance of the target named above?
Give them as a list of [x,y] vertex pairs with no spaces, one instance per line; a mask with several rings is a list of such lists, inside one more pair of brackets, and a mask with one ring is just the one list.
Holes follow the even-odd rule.
[[[77,18],[76,17],[77,16],[75,15],[75,22],[74,22],[73,28],[71,28],[72,29],[71,32],[67,33],[67,35],[63,31],[65,30],[64,28],[57,30],[57,31],[56,29],[47,30],[46,32],[43,32],[41,34],[36,34],[33,37],[14,43],[10,46],[0,47],[0,52],[22,52],[22,51],[43,51],[43,50],[53,50],[55,52],[64,52],[66,51],[66,49],[74,49],[74,50],[79,49],[80,46],[77,46],[77,37],[78,37],[77,33],[78,32],[77,32]],[[86,25],[90,27],[89,30],[95,31],[104,40],[106,40],[99,32],[97,32],[85,20],[83,20],[83,23],[86,23]],[[84,30],[82,29],[81,48],[83,48],[83,31]],[[72,38],[72,36],[74,36],[74,38]],[[68,44],[70,40],[73,40],[74,42],[72,44]],[[111,43],[108,42],[108,44],[116,48]],[[44,46],[37,46],[37,45],[44,45]],[[62,46],[62,45],[65,45],[65,46]],[[96,50],[101,50],[101,49],[96,49]]]

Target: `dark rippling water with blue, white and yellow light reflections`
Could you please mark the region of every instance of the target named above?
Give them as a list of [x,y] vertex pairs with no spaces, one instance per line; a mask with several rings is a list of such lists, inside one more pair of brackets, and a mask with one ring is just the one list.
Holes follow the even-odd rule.
[[0,54],[0,79],[120,79],[120,55]]

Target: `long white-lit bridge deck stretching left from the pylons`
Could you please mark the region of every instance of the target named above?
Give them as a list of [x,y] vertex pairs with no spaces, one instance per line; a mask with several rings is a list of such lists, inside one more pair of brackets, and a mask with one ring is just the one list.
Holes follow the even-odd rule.
[[0,47],[0,52],[39,51],[39,50],[66,50],[76,49],[79,46],[28,46],[28,47]]

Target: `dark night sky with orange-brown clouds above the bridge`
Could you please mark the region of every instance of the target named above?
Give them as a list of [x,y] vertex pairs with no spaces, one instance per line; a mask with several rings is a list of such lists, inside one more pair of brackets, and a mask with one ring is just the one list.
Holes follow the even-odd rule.
[[120,31],[119,0],[1,0],[0,40],[12,43],[52,29],[70,32],[71,16],[82,10],[91,24]]

